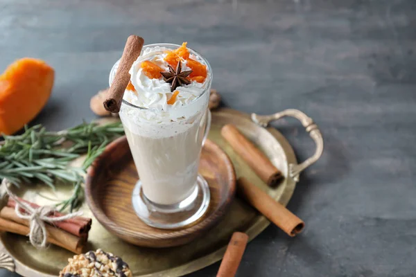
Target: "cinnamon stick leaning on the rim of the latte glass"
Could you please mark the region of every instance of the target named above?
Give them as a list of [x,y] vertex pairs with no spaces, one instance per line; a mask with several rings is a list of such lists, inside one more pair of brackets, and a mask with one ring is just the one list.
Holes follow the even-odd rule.
[[119,69],[108,91],[107,99],[104,101],[104,107],[107,111],[117,113],[120,111],[121,100],[125,88],[130,80],[128,71],[132,67],[133,62],[139,57],[141,48],[143,48],[144,39],[137,35],[130,35],[125,42],[123,55],[121,56]]

